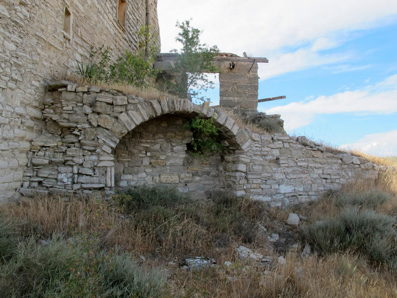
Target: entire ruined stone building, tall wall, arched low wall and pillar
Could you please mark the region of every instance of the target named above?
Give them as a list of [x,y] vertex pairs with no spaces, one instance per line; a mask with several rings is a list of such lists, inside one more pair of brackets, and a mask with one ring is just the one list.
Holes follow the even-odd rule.
[[[258,65],[217,57],[219,108],[186,99],[143,99],[70,82],[91,47],[113,59],[134,52],[137,30],[158,37],[156,0],[3,0],[0,3],[0,201],[17,193],[111,195],[138,184],[177,187],[203,198],[213,190],[282,205],[313,200],[378,167],[334,154],[304,137],[255,133],[222,106],[255,112]],[[159,38],[154,43],[159,45]],[[163,57],[164,58],[164,57]],[[161,62],[161,56],[158,62]],[[222,69],[223,68],[223,69]],[[224,152],[193,157],[192,117],[212,117]]]

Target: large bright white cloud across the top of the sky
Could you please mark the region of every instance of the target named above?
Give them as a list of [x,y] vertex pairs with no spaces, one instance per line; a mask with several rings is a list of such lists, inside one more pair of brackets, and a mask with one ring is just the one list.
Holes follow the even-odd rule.
[[163,52],[179,48],[176,21],[193,17],[192,26],[203,30],[203,42],[223,52],[268,58],[269,64],[259,67],[265,79],[347,60],[346,53],[321,51],[340,46],[356,30],[396,21],[397,1],[160,0],[158,16]]

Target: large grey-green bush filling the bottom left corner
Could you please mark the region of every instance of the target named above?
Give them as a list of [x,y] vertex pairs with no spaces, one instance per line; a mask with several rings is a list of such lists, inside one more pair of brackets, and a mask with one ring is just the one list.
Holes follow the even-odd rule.
[[29,237],[0,266],[2,297],[154,297],[164,283],[161,271],[144,270],[127,253],[59,236],[47,245]]

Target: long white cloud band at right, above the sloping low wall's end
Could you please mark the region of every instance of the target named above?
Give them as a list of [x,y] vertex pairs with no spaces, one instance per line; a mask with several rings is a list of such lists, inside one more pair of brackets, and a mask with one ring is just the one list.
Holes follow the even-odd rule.
[[335,113],[397,113],[397,75],[362,90],[345,91],[331,96],[319,96],[270,109],[267,114],[281,114],[287,131],[312,123],[316,115]]

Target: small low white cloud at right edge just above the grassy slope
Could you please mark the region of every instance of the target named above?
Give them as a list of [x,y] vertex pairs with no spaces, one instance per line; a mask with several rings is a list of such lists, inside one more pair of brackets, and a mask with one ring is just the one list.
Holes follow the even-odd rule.
[[397,130],[365,135],[355,143],[344,144],[341,149],[358,149],[362,152],[378,156],[397,155]]

